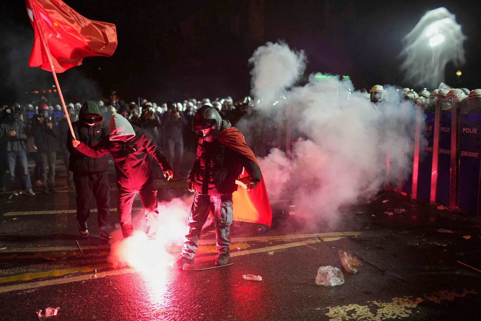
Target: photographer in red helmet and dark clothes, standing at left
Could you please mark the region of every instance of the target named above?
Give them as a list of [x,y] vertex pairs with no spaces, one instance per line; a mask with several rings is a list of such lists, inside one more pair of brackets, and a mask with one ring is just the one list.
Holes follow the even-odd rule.
[[[42,178],[43,193],[57,193],[55,189],[55,162],[57,155],[57,133],[49,117],[49,106],[41,103],[38,106],[37,121],[32,124],[32,135],[37,145],[38,158],[42,164],[40,176]],[[48,168],[48,176],[47,176]]]

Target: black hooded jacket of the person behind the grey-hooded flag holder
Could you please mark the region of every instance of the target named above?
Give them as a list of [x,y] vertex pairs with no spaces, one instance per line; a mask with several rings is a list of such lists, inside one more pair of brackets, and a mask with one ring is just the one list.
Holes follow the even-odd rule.
[[[82,106],[79,112],[79,119],[86,114],[101,115],[99,108],[96,106],[89,106],[85,104]],[[66,120],[65,120],[66,121]],[[86,143],[89,146],[95,146],[101,141],[103,137],[109,136],[109,130],[105,124],[98,121],[94,126],[85,125],[81,120],[77,120],[72,123],[74,128],[75,137],[77,140]],[[72,133],[70,130],[66,133],[67,149],[70,152],[68,169],[71,171],[82,172],[104,172],[109,169],[107,163],[107,155],[99,158],[89,157],[79,152],[74,146],[72,146]]]

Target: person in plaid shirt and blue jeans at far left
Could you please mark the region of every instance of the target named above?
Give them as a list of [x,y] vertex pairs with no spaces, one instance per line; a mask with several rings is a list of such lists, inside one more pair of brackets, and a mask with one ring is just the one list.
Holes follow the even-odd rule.
[[[0,125],[0,144],[4,144],[7,154],[7,163],[12,177],[14,192],[18,196],[20,192],[20,179],[25,187],[27,196],[35,196],[32,191],[32,182],[27,167],[27,155],[25,152],[25,124],[23,115],[16,113],[14,107],[7,107],[4,110],[5,121]],[[20,178],[15,176],[15,167],[20,168]]]

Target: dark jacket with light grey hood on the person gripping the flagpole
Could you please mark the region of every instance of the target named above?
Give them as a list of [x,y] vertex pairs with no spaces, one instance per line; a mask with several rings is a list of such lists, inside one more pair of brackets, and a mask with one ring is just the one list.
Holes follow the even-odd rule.
[[81,143],[77,149],[91,157],[101,157],[109,153],[115,162],[118,188],[135,190],[153,180],[147,154],[151,154],[162,169],[171,169],[151,134],[135,124],[128,123],[127,119],[118,114],[114,117],[115,119],[121,117],[115,131],[121,132],[120,136],[126,136],[124,134],[127,133],[133,136],[132,138],[127,141],[110,141],[114,129],[111,127],[110,136],[104,137],[96,146],[89,147]]

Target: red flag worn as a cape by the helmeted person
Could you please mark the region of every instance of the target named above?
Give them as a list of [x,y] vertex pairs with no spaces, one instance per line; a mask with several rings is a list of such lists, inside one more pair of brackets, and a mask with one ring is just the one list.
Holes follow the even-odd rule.
[[[225,128],[217,135],[216,139],[233,151],[251,159],[259,166],[254,153],[249,146],[247,146],[244,137],[237,128]],[[241,178],[246,176],[248,176],[248,174],[244,170]],[[236,192],[232,193],[232,210],[235,220],[271,226],[272,209],[269,198],[267,197],[266,184],[264,183],[262,174],[261,181],[249,192],[240,187]]]

